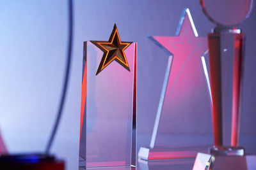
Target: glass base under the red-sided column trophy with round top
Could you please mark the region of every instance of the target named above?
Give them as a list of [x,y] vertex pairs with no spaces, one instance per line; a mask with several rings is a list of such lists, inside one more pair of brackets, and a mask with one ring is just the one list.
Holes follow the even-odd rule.
[[[215,151],[214,151],[215,152]],[[220,152],[223,154],[223,152]],[[233,153],[233,152],[230,152]],[[253,170],[256,169],[256,155],[216,155],[198,153],[193,170]],[[229,153],[228,153],[229,154]]]

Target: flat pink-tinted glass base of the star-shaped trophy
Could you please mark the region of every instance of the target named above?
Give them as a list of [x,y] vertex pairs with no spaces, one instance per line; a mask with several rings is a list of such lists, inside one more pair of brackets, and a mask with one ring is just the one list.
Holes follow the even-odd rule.
[[198,152],[208,153],[209,146],[193,147],[141,147],[138,153],[138,159],[141,160],[159,160],[159,159],[191,159],[196,157]]

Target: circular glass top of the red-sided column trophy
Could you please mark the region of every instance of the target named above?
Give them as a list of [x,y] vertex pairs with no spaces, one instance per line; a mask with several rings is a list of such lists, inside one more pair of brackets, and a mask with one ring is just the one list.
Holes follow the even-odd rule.
[[218,26],[237,26],[250,16],[253,0],[200,0],[205,15]]

